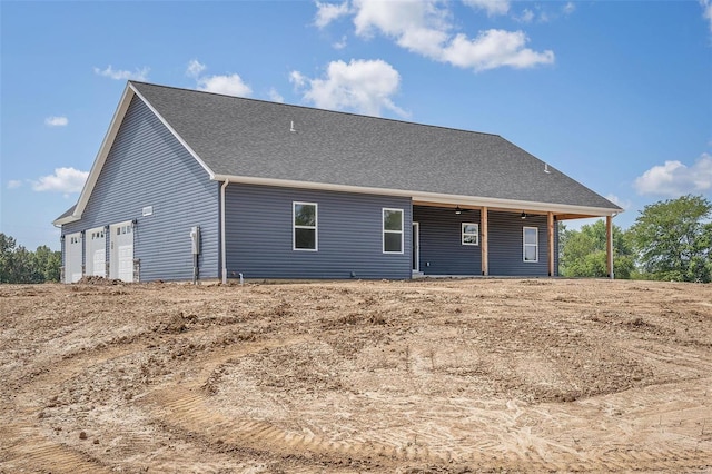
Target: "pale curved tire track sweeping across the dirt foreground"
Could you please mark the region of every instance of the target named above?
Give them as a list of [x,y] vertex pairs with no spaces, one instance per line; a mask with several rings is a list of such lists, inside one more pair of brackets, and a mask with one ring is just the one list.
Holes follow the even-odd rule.
[[[291,340],[290,343],[295,343]],[[277,347],[276,345],[270,345]],[[245,356],[260,350],[267,345],[254,345],[249,350],[241,350]],[[212,367],[220,364],[220,359],[236,358],[235,354],[221,355],[215,358]],[[204,376],[206,373],[204,371]],[[679,468],[704,468],[712,465],[710,455],[704,451],[665,451],[631,448],[622,446],[616,451],[582,451],[557,445],[542,436],[532,435],[530,429],[517,424],[517,418],[524,411],[517,406],[507,406],[506,416],[510,418],[503,426],[494,428],[485,440],[464,443],[457,450],[432,450],[437,446],[445,433],[424,434],[411,429],[413,442],[404,444],[402,437],[385,432],[372,437],[359,435],[358,438],[332,440],[326,435],[315,434],[303,428],[284,429],[267,421],[228,417],[219,412],[200,384],[201,379],[191,384],[164,387],[154,391],[144,398],[142,404],[148,407],[160,424],[172,427],[178,432],[204,436],[211,445],[230,446],[250,450],[273,457],[296,456],[309,462],[314,456],[328,458],[334,462],[343,460],[358,460],[366,465],[378,464],[402,466],[403,463],[448,466],[471,465],[476,468],[515,468],[523,471],[674,471]],[[640,391],[636,391],[640,392]],[[645,401],[647,396],[637,393],[627,394],[625,405],[634,406],[636,399]],[[651,401],[646,401],[651,402]],[[481,428],[483,433],[486,426]],[[496,434],[500,432],[500,434]],[[492,436],[494,435],[494,436]],[[494,437],[494,440],[493,440]],[[487,442],[487,440],[490,440]],[[515,450],[503,450],[502,446],[516,445]],[[469,446],[469,447],[467,447]],[[704,446],[703,446],[704,447]]]

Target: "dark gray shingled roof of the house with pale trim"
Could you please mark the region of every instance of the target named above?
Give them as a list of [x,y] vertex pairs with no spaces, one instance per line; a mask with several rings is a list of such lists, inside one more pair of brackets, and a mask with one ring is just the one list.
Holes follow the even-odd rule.
[[591,215],[622,210],[497,135],[135,81],[123,101],[134,92],[216,180],[382,189],[513,208],[531,203],[573,214],[578,207]]

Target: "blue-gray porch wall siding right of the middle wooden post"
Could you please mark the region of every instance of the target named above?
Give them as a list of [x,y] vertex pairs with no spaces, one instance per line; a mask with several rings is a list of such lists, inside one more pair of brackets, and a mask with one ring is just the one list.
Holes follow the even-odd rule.
[[[546,216],[490,211],[490,275],[492,276],[548,276],[548,245]],[[523,228],[538,228],[538,261],[524,261]],[[556,243],[556,240],[555,240]],[[554,253],[555,255],[556,253]]]

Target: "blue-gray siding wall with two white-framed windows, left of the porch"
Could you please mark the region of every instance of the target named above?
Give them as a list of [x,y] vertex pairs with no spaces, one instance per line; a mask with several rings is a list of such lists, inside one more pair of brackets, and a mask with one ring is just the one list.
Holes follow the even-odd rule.
[[[318,205],[317,251],[293,249],[294,201]],[[403,209],[403,254],[383,253],[383,208]],[[226,210],[230,278],[411,278],[408,198],[229,185]]]

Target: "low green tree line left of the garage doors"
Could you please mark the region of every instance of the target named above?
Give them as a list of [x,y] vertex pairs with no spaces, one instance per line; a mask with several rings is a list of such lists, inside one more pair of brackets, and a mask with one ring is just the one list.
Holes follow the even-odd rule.
[[61,251],[46,245],[31,251],[0,233],[0,283],[59,282]]

